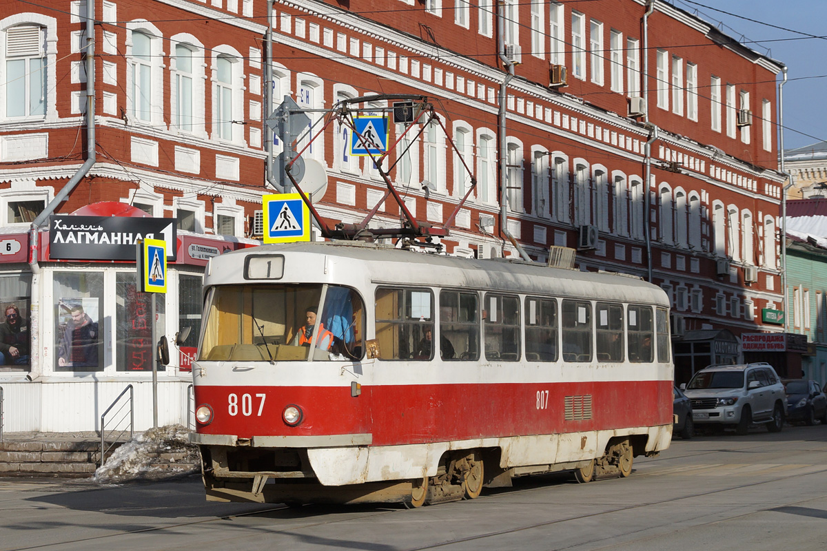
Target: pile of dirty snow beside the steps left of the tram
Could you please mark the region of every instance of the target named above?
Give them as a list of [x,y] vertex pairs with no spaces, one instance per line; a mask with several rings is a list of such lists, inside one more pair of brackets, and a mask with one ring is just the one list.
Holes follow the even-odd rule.
[[130,480],[160,480],[196,473],[201,457],[198,446],[189,444],[189,430],[167,425],[135,435],[95,471],[100,483]]

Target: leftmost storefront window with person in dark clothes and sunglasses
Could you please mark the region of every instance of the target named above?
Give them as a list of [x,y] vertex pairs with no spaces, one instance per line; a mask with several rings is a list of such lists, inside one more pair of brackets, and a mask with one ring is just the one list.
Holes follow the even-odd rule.
[[31,304],[31,273],[15,273],[0,277],[0,371],[31,368],[29,350],[29,305]]

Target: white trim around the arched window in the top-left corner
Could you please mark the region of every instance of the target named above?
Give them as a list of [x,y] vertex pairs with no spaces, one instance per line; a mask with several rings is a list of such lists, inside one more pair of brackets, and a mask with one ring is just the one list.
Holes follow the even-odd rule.
[[[45,69],[46,69],[46,97],[45,116],[7,117],[6,116],[6,31],[12,26],[38,25],[45,27]],[[7,123],[29,122],[29,121],[57,121],[60,117],[57,112],[57,20],[54,17],[41,15],[40,13],[17,13],[15,15],[0,19],[0,121]],[[13,130],[8,127],[7,130]]]

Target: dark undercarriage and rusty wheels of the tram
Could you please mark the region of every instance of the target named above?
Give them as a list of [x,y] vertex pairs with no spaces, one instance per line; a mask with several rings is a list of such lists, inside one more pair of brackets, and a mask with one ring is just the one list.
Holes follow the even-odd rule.
[[646,451],[646,436],[609,440],[599,458],[566,463],[500,467],[500,449],[452,450],[433,476],[414,480],[326,486],[318,481],[304,449],[201,446],[208,501],[259,503],[403,503],[419,507],[475,499],[483,487],[510,487],[514,477],[573,471],[578,482],[628,477],[633,457]]

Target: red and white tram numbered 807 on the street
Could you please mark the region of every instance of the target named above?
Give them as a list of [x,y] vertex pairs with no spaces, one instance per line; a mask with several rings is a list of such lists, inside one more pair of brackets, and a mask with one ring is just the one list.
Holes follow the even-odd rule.
[[625,477],[672,437],[669,302],[638,278],[337,241],[214,258],[204,299],[210,500],[419,506]]

